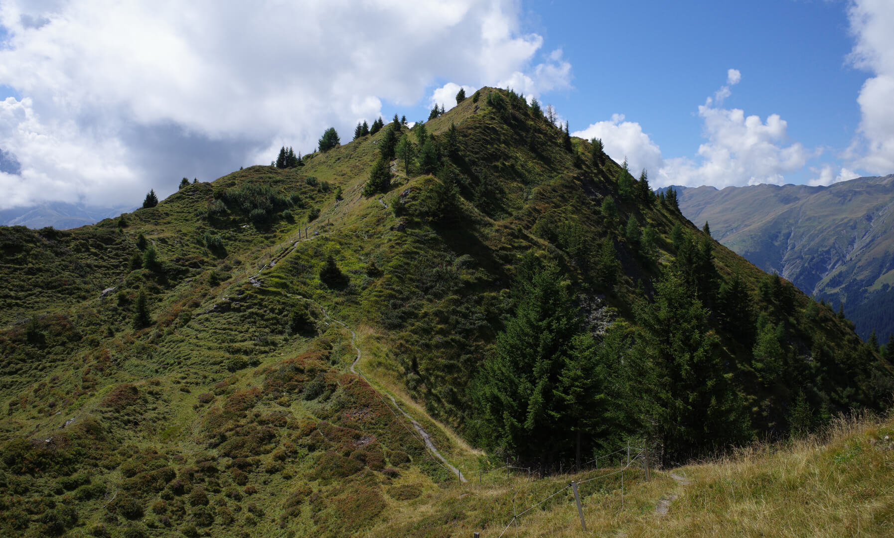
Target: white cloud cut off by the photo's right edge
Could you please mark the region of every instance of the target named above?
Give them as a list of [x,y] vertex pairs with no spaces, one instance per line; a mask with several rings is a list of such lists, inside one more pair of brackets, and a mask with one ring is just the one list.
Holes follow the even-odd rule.
[[862,120],[859,138],[846,156],[857,167],[880,175],[894,172],[894,3],[855,0],[848,9],[856,38],[848,60],[871,71],[857,97]]

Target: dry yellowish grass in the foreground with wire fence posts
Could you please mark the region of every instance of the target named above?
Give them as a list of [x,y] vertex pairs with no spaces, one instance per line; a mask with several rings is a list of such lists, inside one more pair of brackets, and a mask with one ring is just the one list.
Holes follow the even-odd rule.
[[[496,538],[520,513],[518,536],[894,536],[894,420],[835,421],[821,437],[759,444],[715,461],[654,472],[638,463],[583,483],[587,531],[581,530],[571,480],[617,469],[528,480],[487,475],[484,483],[430,487],[394,503],[370,536]],[[676,478],[675,478],[676,477]],[[681,480],[682,479],[682,480]],[[656,507],[661,500],[666,515]],[[514,508],[513,508],[514,502]],[[516,525],[503,536],[516,536]]]

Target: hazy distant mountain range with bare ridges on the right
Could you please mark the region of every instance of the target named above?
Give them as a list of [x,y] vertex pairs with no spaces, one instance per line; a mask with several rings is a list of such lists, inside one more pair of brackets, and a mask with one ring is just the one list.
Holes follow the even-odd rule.
[[894,332],[894,174],[828,187],[676,187],[715,239],[845,313],[864,339]]

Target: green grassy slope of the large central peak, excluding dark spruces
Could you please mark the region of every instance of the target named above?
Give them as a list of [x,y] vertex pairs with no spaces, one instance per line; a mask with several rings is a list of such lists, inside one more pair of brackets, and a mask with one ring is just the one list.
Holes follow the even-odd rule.
[[[525,447],[488,429],[473,387],[502,353],[498,335],[518,323],[526,281],[560,275],[547,283],[580,311],[568,316],[575,341],[602,342],[587,357],[620,342],[611,360],[639,364],[640,351],[662,352],[638,324],[662,315],[667,275],[702,274],[693,245],[713,249],[698,269],[711,306],[682,300],[747,433],[787,432],[797,393],[817,417],[878,408],[890,393],[890,365],[829,307],[651,193],[628,192],[618,164],[584,140],[566,147],[518,96],[485,88],[425,127],[436,177],[407,175],[397,160],[391,187],[370,198],[362,189],[385,130],[297,168],[189,185],[94,226],[0,228],[0,533],[342,536],[407,525],[451,535],[495,525],[505,484],[483,504],[448,502],[456,477],[401,409],[469,476],[522,458]],[[637,234],[646,230],[649,240]],[[740,331],[705,287],[737,278],[739,314],[754,311]],[[147,324],[135,322],[144,301]],[[755,358],[761,342],[775,342],[772,375]],[[661,364],[652,360],[643,366]],[[651,435],[657,460],[682,451],[625,428],[587,433],[586,455],[623,433]],[[551,471],[573,451],[527,463]],[[529,496],[552,485],[536,482]]]

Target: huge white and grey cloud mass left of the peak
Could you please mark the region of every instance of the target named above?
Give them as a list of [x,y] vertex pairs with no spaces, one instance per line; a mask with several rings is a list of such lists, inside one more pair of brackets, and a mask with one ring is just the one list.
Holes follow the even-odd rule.
[[513,0],[5,1],[0,151],[20,170],[0,172],[0,207],[139,203],[308,151],[329,126],[346,141],[438,80],[567,87],[569,63],[519,21]]

